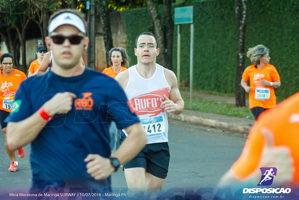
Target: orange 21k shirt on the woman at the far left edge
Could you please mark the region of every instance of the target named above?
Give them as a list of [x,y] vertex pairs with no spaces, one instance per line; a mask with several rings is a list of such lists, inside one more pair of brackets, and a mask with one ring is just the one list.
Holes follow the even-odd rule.
[[4,76],[2,71],[0,72],[0,109],[6,112],[11,112],[13,100],[13,95],[16,93],[17,88],[20,83],[27,79],[24,72],[13,69],[13,73],[9,76]]

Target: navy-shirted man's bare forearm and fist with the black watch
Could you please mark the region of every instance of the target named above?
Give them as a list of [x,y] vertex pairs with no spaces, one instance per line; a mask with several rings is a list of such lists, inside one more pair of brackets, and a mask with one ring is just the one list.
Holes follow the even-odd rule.
[[[117,158],[121,165],[134,158],[147,143],[147,134],[140,122],[130,125],[125,130],[128,137],[111,156]],[[87,162],[87,173],[95,180],[107,178],[115,170],[108,158],[98,154],[89,154],[84,161]]]

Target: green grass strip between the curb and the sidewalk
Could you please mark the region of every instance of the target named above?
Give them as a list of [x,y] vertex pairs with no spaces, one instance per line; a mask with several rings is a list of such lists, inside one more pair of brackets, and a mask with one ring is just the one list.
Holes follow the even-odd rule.
[[193,98],[193,105],[190,105],[190,98],[182,97],[185,102],[186,110],[215,113],[233,117],[245,118],[250,116],[253,118],[249,106],[237,107],[234,103],[215,102],[202,98]]

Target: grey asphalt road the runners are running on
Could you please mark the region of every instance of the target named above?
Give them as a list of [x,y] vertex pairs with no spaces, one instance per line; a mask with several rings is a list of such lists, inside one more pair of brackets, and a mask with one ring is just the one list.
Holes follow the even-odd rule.
[[[169,131],[170,167],[163,191],[182,187],[213,187],[219,178],[239,157],[245,138],[239,133],[223,132],[213,128],[171,122]],[[25,146],[25,158],[17,172],[8,172],[9,158],[4,148],[4,135],[0,134],[0,199],[4,193],[30,187],[30,145]],[[126,192],[122,170],[112,175],[114,191]],[[1,196],[2,194],[2,196]]]

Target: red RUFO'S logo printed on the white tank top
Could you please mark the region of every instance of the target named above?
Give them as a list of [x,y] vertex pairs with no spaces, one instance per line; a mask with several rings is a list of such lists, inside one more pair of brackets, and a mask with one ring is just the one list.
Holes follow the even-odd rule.
[[136,115],[149,114],[150,117],[157,116],[164,112],[164,94],[169,97],[169,88],[161,88],[146,94],[141,94],[129,100],[129,105],[133,104]]

